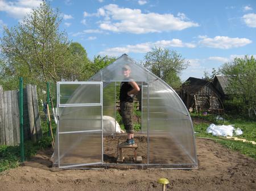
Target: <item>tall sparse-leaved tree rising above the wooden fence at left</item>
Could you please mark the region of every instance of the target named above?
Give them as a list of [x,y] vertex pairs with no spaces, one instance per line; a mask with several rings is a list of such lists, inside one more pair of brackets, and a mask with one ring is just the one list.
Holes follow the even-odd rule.
[[34,84],[61,79],[63,66],[69,61],[66,59],[69,41],[67,35],[59,31],[59,15],[43,1],[18,26],[4,28],[1,70],[5,76],[23,77],[25,82]]

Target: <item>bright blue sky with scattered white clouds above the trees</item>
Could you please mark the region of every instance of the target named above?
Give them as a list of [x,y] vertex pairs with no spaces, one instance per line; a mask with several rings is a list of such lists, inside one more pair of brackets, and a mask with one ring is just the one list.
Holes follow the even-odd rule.
[[[64,0],[59,9],[69,39],[88,57],[127,53],[141,62],[154,46],[176,50],[188,68],[181,79],[203,77],[234,57],[256,56],[256,0]],[[39,0],[0,0],[3,26],[18,24]]]

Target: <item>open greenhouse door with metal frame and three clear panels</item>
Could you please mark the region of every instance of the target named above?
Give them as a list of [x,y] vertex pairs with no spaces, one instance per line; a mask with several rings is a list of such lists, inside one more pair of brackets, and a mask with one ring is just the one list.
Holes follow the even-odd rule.
[[59,167],[102,164],[102,82],[58,82],[57,116]]

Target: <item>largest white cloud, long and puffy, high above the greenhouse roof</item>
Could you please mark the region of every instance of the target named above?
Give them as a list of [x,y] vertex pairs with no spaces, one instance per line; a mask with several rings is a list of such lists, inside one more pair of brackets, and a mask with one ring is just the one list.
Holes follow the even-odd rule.
[[191,22],[185,14],[158,14],[150,12],[143,14],[140,9],[121,8],[110,4],[98,9],[95,14],[84,12],[84,16],[104,16],[100,28],[113,32],[150,33],[164,31],[181,31],[189,27],[198,27],[199,24]]

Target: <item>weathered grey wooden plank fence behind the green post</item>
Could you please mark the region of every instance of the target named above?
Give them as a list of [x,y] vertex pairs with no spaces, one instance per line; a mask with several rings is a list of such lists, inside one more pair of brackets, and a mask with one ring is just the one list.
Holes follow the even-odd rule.
[[[24,139],[36,142],[42,137],[36,86],[28,84],[23,90]],[[0,144],[20,143],[19,91],[3,91],[0,86]]]

